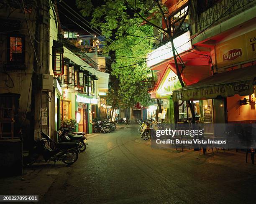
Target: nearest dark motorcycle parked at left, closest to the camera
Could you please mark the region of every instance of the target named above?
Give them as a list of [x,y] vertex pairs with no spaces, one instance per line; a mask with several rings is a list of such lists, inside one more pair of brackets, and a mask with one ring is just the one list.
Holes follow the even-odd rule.
[[[56,148],[52,149],[47,145],[48,142],[55,144]],[[41,139],[36,142],[28,156],[23,156],[23,164],[31,165],[42,155],[45,161],[54,161],[54,164],[56,161],[62,161],[64,164],[71,165],[78,159],[78,147],[78,142],[56,143],[41,132]]]

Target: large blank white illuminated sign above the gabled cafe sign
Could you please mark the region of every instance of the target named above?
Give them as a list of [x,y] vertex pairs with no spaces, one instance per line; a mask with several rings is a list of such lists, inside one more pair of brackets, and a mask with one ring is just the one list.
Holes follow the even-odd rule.
[[[179,54],[185,52],[186,50],[192,49],[189,31],[175,38],[173,43],[177,53]],[[152,67],[172,57],[172,43],[168,42],[148,54],[147,65],[148,67]]]

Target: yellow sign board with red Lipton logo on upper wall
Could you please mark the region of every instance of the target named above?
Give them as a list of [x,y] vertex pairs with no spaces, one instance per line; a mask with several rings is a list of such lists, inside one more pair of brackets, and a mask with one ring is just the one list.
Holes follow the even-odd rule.
[[216,45],[218,67],[256,58],[256,30]]

